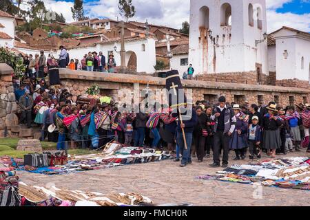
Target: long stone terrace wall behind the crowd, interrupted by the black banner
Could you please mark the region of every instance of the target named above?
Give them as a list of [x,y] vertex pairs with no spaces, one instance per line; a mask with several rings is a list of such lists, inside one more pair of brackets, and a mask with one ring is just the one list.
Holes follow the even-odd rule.
[[[123,94],[130,94],[134,89],[134,83],[138,83],[139,89],[145,89],[149,84],[150,89],[162,89],[165,87],[165,78],[152,76],[136,76],[128,74],[103,74],[98,72],[83,72],[70,69],[60,69],[61,83],[70,90],[74,96],[85,94],[87,87],[99,85],[104,95],[110,95],[114,100],[122,102]],[[228,102],[244,102],[248,100],[251,103],[268,104],[275,100],[282,107],[285,107],[290,101],[296,104],[309,100],[308,89],[296,87],[277,87],[269,85],[248,85],[238,83],[214,83],[203,80],[183,80],[185,89],[193,89],[194,102],[205,100],[209,97],[218,97],[224,95]],[[125,89],[121,94],[119,89]],[[291,100],[290,100],[291,96]],[[76,98],[76,97],[75,97]],[[242,103],[240,103],[242,104]]]

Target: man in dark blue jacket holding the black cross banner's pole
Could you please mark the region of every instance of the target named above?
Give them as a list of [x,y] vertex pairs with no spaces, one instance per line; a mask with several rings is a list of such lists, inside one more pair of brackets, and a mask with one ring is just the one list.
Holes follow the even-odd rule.
[[[177,132],[176,140],[178,142],[180,152],[183,152],[182,160],[180,163],[181,167],[185,167],[187,164],[192,164],[191,146],[192,146],[192,140],[193,140],[193,131],[194,131],[194,126],[198,122],[197,114],[196,114],[196,111],[194,111],[194,109],[183,108],[183,110],[186,110],[183,113],[182,108],[181,108],[181,115],[182,115],[183,123],[180,122],[179,113],[172,113],[172,117],[178,118],[178,127],[176,129],[176,132]],[[184,129],[185,131],[187,149],[185,149],[182,129]]]

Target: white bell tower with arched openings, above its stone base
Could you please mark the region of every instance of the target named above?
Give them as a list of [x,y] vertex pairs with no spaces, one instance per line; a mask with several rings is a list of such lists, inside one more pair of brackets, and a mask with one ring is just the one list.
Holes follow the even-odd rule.
[[197,74],[268,74],[265,0],[191,0],[189,63]]

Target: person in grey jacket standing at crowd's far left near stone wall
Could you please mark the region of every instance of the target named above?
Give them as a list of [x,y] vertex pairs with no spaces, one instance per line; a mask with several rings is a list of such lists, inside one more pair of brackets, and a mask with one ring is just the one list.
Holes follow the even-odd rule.
[[28,129],[30,129],[33,99],[30,96],[29,90],[25,91],[25,94],[19,99],[19,106],[21,107],[21,122],[24,122],[26,120]]

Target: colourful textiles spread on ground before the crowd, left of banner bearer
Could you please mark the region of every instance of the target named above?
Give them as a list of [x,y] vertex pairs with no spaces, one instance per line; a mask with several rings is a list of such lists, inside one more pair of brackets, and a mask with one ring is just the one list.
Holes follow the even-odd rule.
[[102,153],[92,155],[70,156],[64,165],[55,165],[36,168],[33,166],[22,166],[21,170],[30,173],[42,173],[46,175],[65,174],[85,170],[98,170],[123,166],[127,164],[142,164],[170,159],[172,155],[164,151],[145,149],[140,147],[128,147],[118,143],[109,143]]

